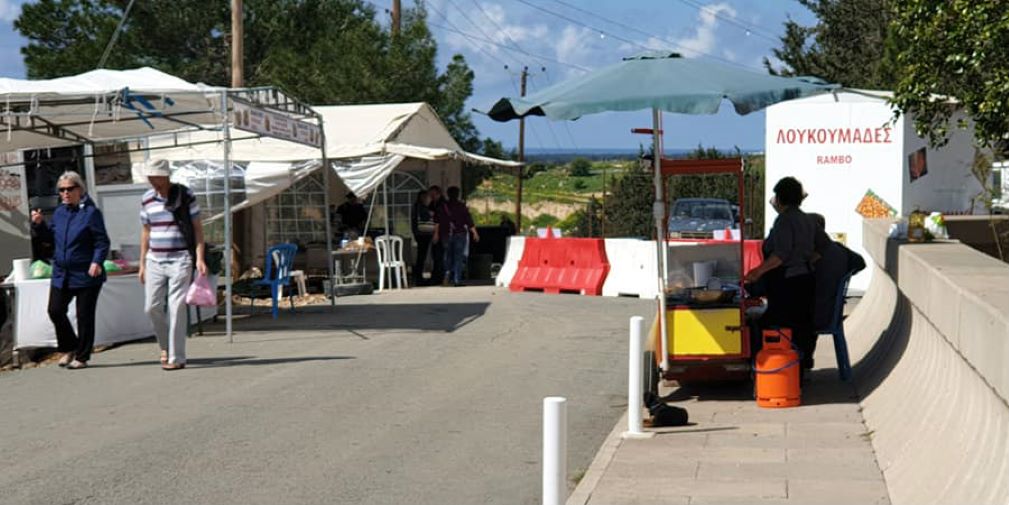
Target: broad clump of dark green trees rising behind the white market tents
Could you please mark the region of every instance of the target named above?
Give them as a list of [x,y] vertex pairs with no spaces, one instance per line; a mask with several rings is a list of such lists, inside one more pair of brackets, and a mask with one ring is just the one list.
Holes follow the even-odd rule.
[[[95,69],[128,0],[25,3],[14,27],[29,78]],[[437,43],[420,4],[398,36],[362,0],[245,0],[245,84],[277,86],[308,103],[430,103],[459,144],[480,152],[465,102],[473,73],[456,55],[436,66]],[[135,2],[105,65],[153,67],[191,82],[230,84],[228,2]]]

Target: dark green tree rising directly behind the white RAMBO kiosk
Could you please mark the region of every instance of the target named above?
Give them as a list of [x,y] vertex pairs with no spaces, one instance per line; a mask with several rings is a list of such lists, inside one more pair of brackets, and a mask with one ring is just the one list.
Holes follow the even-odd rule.
[[775,75],[816,76],[854,88],[892,89],[897,74],[893,54],[899,40],[891,30],[893,0],[798,0],[816,15],[815,26],[789,19],[781,46],[772,50],[785,66],[764,66]]

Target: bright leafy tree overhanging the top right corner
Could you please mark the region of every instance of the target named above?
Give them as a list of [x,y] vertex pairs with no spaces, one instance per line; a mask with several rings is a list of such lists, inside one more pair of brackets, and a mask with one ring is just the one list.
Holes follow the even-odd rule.
[[[894,104],[932,145],[973,123],[976,140],[1009,154],[1009,9],[1001,0],[905,0],[893,6],[900,80]],[[949,98],[957,101],[951,106]],[[967,117],[958,116],[960,112]]]

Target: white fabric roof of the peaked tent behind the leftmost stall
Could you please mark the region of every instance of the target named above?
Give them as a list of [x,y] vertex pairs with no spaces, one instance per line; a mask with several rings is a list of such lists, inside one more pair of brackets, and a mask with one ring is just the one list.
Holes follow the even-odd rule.
[[[424,102],[373,105],[327,105],[313,107],[325,124],[326,154],[333,170],[347,189],[367,195],[377,189],[406,159],[427,161],[458,160],[472,165],[518,168],[522,164],[467,153],[452,138],[434,108]],[[156,157],[177,163],[195,160],[220,160],[213,143],[215,132],[193,132],[154,137],[149,140]],[[246,202],[234,210],[248,207],[276,195],[308,172],[322,166],[317,149],[266,137],[235,136],[232,160],[248,162],[250,171],[263,175],[276,171],[271,186],[253,191],[246,187]],[[238,141],[241,140],[241,141]],[[175,148],[177,143],[186,146]],[[142,179],[138,170],[142,160],[135,157],[134,179]],[[287,163],[288,169],[284,168]],[[304,170],[310,163],[312,168]],[[263,164],[269,164],[263,165]],[[285,170],[296,171],[290,177]]]

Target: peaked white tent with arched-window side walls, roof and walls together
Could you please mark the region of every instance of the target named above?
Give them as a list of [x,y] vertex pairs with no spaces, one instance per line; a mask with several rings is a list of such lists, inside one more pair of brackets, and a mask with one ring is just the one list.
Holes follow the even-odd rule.
[[[371,233],[390,230],[407,238],[408,247],[412,203],[418,192],[430,185],[459,186],[467,165],[522,166],[464,150],[427,103],[313,106],[313,110],[324,119],[326,154],[337,176],[322,188],[315,185],[315,191],[325,191],[334,202],[353,192],[371,206],[368,211]],[[172,161],[178,182],[195,187],[202,179],[189,174],[204,168],[221,170],[221,154],[213,144],[220,136],[221,133],[212,131],[162,135],[151,137],[149,146],[156,149],[158,158]],[[302,194],[302,188],[313,186],[310,178],[318,178],[323,167],[319,153],[307,146],[245,134],[234,135],[232,141],[232,160],[240,167],[235,169],[233,186],[240,183],[243,191],[231,209],[233,212],[247,209],[249,214],[238,223],[244,236],[239,244],[242,260],[247,265],[262,265],[263,251],[282,239],[299,240],[308,249],[303,251],[306,257],[325,257],[326,251],[319,247],[318,222],[324,209],[319,207],[317,194]],[[185,145],[176,146],[178,143]],[[135,181],[142,181],[145,156],[144,153],[132,156]],[[297,208],[275,209],[275,202],[282,198],[296,200]],[[303,221],[297,223],[303,229],[288,232],[290,220],[284,223],[285,230],[274,229],[281,225],[274,222],[274,213],[291,210],[295,216],[284,219]],[[219,216],[220,213],[214,218]],[[344,237],[336,238],[335,243],[340,243]],[[351,240],[350,245],[355,243]],[[351,268],[343,280],[356,283],[365,278],[364,263],[355,258],[355,252],[364,248],[329,250],[333,262],[339,262],[341,268],[358,266]],[[341,284],[337,281],[336,284]]]

